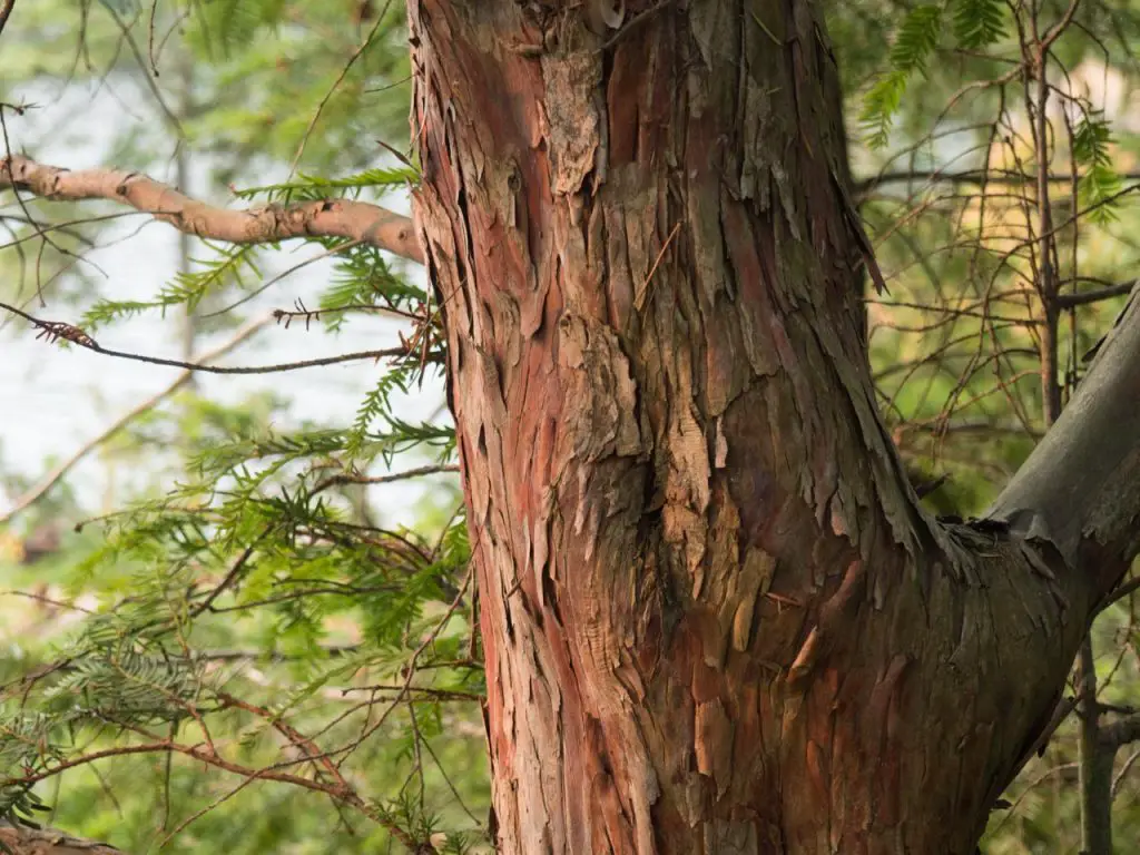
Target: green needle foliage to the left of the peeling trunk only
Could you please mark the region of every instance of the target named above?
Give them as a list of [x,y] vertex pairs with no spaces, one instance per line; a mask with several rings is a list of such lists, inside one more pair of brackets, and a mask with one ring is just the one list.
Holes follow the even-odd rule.
[[[377,141],[407,136],[405,39],[397,3],[22,5],[2,39],[2,98],[34,116],[36,99],[111,90],[136,121],[92,128],[108,138],[91,141],[68,127],[66,142],[106,146],[95,162],[128,169],[186,158],[184,180],[207,177],[197,195],[377,199],[416,179]],[[276,247],[197,242],[153,296],[100,296],[73,263],[117,237],[92,207],[104,206],[3,209],[17,250],[40,237],[25,210],[74,223],[25,258],[3,253],[9,299],[76,304],[92,331],[189,309],[206,316],[202,341],[249,320],[271,282]],[[291,320],[337,332],[384,314],[434,351],[422,283],[372,247],[314,244],[331,275],[316,312],[299,304]],[[225,321],[209,317],[222,310]],[[446,413],[401,415],[425,374],[438,388],[435,365],[417,352],[376,368],[351,425],[291,421],[288,386],[272,381],[228,405],[173,390],[99,451],[147,473],[141,495],[84,523],[88,503],[64,482],[5,530],[0,813],[137,853],[370,852],[401,834],[447,852],[481,844],[483,683],[454,431]],[[399,489],[409,470],[430,486]],[[390,496],[410,499],[400,515],[415,530],[385,522]],[[31,549],[44,531],[52,548]],[[153,750],[70,766],[139,746]],[[205,774],[203,747],[221,758]]]

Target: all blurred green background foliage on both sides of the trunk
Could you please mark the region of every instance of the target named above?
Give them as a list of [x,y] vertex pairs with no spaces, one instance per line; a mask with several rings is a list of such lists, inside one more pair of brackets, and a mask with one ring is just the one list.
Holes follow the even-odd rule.
[[[980,514],[1044,431],[1042,331],[1056,327],[1067,398],[1137,266],[1140,5],[825,8],[853,195],[890,286],[868,301],[882,413],[915,479],[945,479],[930,508]],[[111,88],[137,121],[93,160],[153,170],[189,156],[209,173],[203,196],[377,199],[417,176],[377,142],[408,136],[401,16],[370,0],[23,3],[0,40],[0,99]],[[1054,26],[1042,140],[1034,46]],[[16,111],[3,116],[18,127]],[[198,242],[195,263],[148,299],[99,296],[74,262],[115,227],[92,209],[111,211],[0,209],[8,296],[78,306],[91,328],[218,316],[197,321],[202,336],[247,320],[274,282],[263,264],[278,247]],[[28,215],[71,225],[48,241]],[[229,405],[178,390],[100,447],[108,465],[149,477],[130,502],[115,497],[122,510],[71,532],[90,508],[62,481],[5,530],[0,812],[137,853],[171,836],[179,852],[238,854],[372,852],[399,833],[484,845],[484,686],[454,433],[446,413],[406,413],[422,384],[438,388],[430,295],[376,250],[311,243],[332,272],[306,298],[315,310],[283,317],[336,334],[383,314],[415,355],[361,383],[350,424],[291,422],[280,380]],[[1052,320],[1047,301],[1060,307]],[[14,496],[32,486],[0,478]],[[394,490],[420,478],[431,486]],[[414,527],[386,522],[408,503]],[[1140,706],[1138,641],[1131,597],[1094,627],[1115,710]],[[1140,837],[1135,757],[1126,746],[1117,759],[1119,840]],[[1076,850],[1075,764],[1070,716],[984,848]]]

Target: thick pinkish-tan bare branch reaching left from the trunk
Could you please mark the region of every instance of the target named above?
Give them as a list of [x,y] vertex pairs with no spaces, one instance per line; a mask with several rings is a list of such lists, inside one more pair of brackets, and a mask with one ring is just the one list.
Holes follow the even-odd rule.
[[245,211],[214,207],[138,172],[67,170],[10,155],[0,158],[0,188],[49,199],[105,198],[128,204],[180,231],[233,244],[275,243],[292,237],[344,237],[423,262],[412,220],[378,205],[321,199]]

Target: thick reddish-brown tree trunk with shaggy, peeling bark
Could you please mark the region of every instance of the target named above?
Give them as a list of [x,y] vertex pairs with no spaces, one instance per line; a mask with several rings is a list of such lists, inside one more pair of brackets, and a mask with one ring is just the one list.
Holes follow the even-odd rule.
[[971,853],[1135,545],[918,506],[812,3],[408,8],[502,852]]

